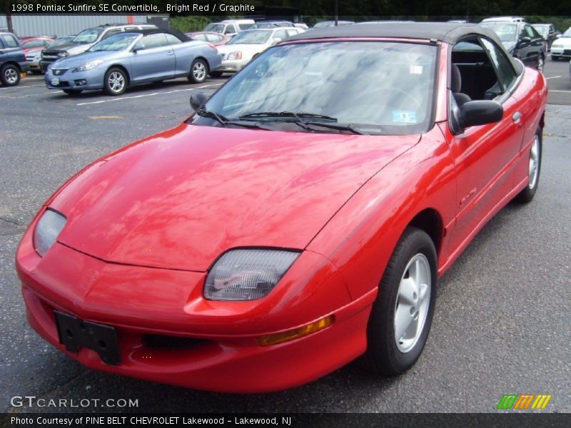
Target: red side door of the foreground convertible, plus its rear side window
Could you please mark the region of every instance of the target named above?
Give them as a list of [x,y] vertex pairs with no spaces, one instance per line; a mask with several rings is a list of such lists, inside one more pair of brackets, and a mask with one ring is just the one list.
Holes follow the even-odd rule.
[[503,117],[497,123],[466,128],[450,136],[450,151],[457,172],[458,216],[450,236],[450,250],[459,248],[477,230],[513,187],[513,162],[520,152],[523,128],[519,101],[511,91],[517,74],[505,51],[489,39],[480,39],[492,63],[500,92]]

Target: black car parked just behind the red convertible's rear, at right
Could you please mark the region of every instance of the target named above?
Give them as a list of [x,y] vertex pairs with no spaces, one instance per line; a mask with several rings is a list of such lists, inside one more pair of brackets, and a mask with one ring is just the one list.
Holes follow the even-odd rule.
[[480,23],[500,38],[505,50],[525,66],[543,71],[547,56],[547,41],[530,24],[516,21],[485,21]]

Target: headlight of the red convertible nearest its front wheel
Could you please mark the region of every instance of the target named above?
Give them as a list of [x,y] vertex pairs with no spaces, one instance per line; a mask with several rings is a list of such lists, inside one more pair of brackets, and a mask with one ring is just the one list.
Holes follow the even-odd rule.
[[300,253],[231,250],[214,263],[206,283],[208,300],[255,300],[271,292]]

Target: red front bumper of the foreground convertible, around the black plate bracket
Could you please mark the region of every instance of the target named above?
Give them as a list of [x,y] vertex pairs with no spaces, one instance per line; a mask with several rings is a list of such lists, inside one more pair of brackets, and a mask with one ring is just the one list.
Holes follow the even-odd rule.
[[[40,258],[31,230],[16,255],[29,322],[87,367],[196,389],[268,392],[310,382],[365,351],[376,290],[351,301],[340,272],[316,253],[302,253],[261,300],[213,302],[202,297],[206,272],[106,263],[59,243]],[[86,347],[66,350],[54,310],[115,327],[121,362],[106,365]],[[279,345],[256,342],[326,315],[334,322],[324,330]],[[171,349],[148,337],[190,342]]]

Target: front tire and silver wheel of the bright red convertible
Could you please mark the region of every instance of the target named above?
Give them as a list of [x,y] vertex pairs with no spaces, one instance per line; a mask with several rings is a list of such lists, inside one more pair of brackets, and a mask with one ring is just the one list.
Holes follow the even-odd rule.
[[436,260],[430,236],[418,228],[407,228],[385,269],[370,314],[363,357],[370,372],[396,376],[412,367],[423,352],[434,313]]

